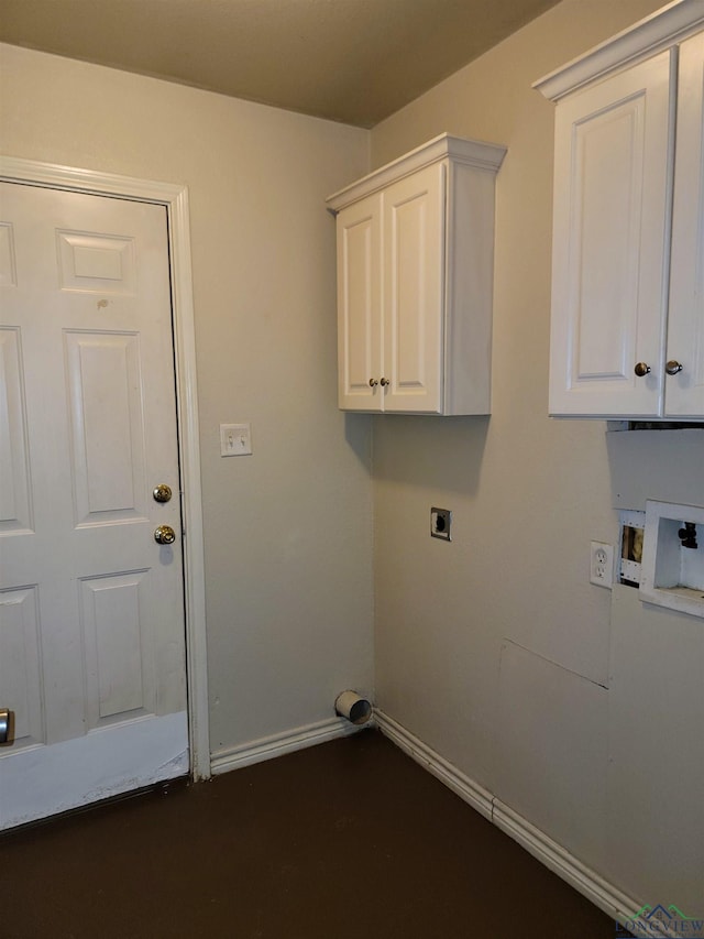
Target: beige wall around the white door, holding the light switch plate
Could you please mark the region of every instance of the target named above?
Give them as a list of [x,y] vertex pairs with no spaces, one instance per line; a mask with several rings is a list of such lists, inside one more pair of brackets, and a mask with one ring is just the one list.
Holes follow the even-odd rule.
[[[336,406],[334,221],[369,133],[2,47],[2,149],[190,194],[213,750],[372,690],[370,426]],[[218,425],[252,422],[252,457]]]

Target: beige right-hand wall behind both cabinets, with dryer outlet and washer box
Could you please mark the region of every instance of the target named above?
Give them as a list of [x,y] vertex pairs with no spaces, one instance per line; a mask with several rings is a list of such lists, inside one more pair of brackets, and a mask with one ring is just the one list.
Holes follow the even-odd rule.
[[[681,716],[704,717],[690,664],[693,651],[704,664],[704,630],[692,640],[692,618],[652,618],[676,679],[644,727],[649,647],[629,645],[632,601],[623,625],[590,585],[588,548],[616,542],[613,506],[629,495],[615,476],[634,477],[630,507],[644,492],[704,502],[704,432],[607,438],[604,422],[548,418],[554,109],[531,89],[658,6],[565,0],[372,131],[374,166],[442,131],[508,146],[492,416],[375,418],[376,690],[386,713],[616,886],[686,910],[701,908],[704,754]],[[451,544],[429,537],[431,505],[452,510]],[[653,768],[660,749],[688,754],[684,778]]]

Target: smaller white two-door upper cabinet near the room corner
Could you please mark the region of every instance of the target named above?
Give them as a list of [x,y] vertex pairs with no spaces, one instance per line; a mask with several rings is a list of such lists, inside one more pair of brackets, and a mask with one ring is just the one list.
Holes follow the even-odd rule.
[[488,414],[505,148],[442,134],[328,199],[343,410]]

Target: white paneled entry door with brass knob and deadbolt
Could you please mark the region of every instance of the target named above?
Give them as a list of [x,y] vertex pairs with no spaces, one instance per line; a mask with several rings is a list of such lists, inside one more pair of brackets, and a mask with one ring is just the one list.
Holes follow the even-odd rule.
[[0,195],[7,828],[183,775],[189,757],[166,211]]

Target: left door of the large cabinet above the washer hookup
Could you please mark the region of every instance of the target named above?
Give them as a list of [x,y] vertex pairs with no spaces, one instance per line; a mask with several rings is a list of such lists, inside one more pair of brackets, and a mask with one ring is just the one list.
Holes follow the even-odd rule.
[[666,52],[558,105],[551,414],[662,413],[671,91]]

